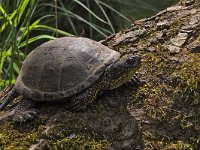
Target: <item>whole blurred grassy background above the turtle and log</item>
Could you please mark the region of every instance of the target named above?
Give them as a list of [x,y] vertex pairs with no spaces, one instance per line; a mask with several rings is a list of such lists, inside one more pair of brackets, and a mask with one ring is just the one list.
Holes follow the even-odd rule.
[[60,36],[102,39],[177,0],[0,0],[0,90],[14,84],[26,55]]

